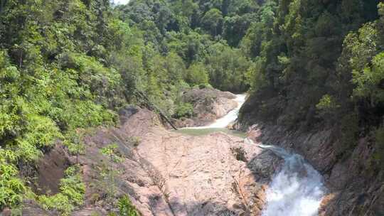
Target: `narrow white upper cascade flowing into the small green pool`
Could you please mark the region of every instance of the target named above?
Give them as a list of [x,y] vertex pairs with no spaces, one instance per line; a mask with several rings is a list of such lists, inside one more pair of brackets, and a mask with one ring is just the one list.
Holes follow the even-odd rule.
[[230,123],[238,119],[240,108],[242,104],[244,104],[246,96],[247,95],[236,95],[235,102],[238,102],[238,107],[228,112],[224,117],[217,119],[213,124],[208,126],[186,127],[184,129],[219,129],[227,127]]

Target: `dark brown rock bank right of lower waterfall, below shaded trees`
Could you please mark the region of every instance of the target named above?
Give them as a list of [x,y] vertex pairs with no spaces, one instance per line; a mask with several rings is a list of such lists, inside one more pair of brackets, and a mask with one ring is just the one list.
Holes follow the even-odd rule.
[[384,173],[369,169],[373,146],[368,139],[361,139],[347,158],[338,158],[331,131],[300,133],[253,125],[248,135],[254,141],[293,148],[324,175],[329,193],[319,215],[384,215]]

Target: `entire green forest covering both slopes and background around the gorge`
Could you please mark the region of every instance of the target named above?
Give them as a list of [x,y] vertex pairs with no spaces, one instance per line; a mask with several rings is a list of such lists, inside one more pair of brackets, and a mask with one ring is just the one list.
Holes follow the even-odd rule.
[[179,118],[192,109],[179,93],[206,87],[248,92],[245,123],[334,129],[340,157],[371,136],[380,168],[384,3],[1,0],[0,211],[33,198],[70,215],[83,204],[78,168],[60,193],[37,195],[26,176],[38,158],[58,141],[81,153],[82,129],[117,124],[137,92]]

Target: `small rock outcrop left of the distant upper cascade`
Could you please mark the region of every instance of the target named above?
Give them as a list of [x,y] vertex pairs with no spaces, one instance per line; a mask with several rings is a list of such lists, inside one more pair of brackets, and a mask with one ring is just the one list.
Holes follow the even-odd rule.
[[235,109],[238,104],[233,99],[235,95],[230,92],[205,88],[193,89],[184,93],[183,102],[193,104],[195,117],[191,119],[174,119],[178,127],[206,126],[215,119],[225,116],[230,110]]

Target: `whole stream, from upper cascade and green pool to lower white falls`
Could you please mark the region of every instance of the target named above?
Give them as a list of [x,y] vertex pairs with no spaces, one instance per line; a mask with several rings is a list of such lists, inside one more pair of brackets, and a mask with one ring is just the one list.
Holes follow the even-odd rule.
[[[194,136],[223,131],[245,138],[240,131],[227,129],[227,126],[238,117],[240,107],[246,95],[236,95],[238,107],[228,112],[208,126],[197,126],[180,129],[179,132]],[[259,145],[284,159],[282,167],[274,174],[267,189],[267,204],[262,216],[316,216],[321,199],[325,194],[323,178],[304,158],[297,153],[289,153],[277,146]]]

